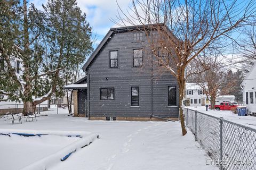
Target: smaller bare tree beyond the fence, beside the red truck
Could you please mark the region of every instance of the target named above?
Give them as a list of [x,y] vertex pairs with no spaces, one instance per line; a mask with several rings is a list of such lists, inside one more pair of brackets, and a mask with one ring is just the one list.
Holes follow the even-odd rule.
[[[215,99],[221,95],[227,95],[233,89],[235,80],[233,75],[225,68],[225,64],[220,60],[219,54],[214,56],[199,56],[193,64],[193,71],[197,74],[191,75],[193,80],[203,89],[206,98],[211,102],[211,109],[214,109]],[[204,70],[202,72],[202,70]],[[229,80],[229,81],[228,81]]]

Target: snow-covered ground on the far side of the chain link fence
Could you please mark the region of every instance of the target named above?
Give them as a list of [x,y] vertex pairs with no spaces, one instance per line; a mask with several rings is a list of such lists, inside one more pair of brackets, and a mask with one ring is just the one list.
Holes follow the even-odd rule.
[[189,106],[189,109],[193,109],[194,111],[202,112],[205,114],[209,114],[215,117],[223,117],[225,120],[235,122],[238,124],[242,124],[245,126],[249,126],[250,128],[256,129],[256,117],[255,116],[238,116],[231,111],[215,111],[208,110],[206,111],[205,106]]

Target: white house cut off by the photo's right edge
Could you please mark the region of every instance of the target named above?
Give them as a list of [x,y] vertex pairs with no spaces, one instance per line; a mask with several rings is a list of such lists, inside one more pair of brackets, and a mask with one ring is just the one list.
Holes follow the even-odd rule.
[[244,78],[241,87],[243,89],[243,105],[247,107],[249,114],[256,114],[256,63]]

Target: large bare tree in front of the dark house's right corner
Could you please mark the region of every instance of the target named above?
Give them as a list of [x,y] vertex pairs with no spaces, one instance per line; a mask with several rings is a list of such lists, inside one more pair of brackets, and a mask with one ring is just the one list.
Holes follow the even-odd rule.
[[[147,32],[148,24],[154,24],[150,29],[158,37],[152,39],[147,34],[148,44],[162,66],[177,78],[182,135],[187,133],[182,110],[187,65],[205,48],[217,40],[221,43],[221,38],[253,18],[255,3],[253,0],[243,4],[228,0],[133,0],[129,10],[119,7],[117,20],[113,19],[118,25],[145,25]],[[168,53],[164,58],[157,53],[159,47]]]

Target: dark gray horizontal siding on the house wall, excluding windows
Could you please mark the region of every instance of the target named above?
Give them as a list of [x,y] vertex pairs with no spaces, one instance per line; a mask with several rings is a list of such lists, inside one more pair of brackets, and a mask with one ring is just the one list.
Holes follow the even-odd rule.
[[[109,31],[104,45],[84,66],[87,73],[87,111],[91,117],[177,118],[179,90],[176,79],[146,54],[147,40],[133,42],[133,32]],[[133,49],[143,50],[143,66],[133,67]],[[110,51],[118,50],[118,67],[110,68]],[[92,56],[91,56],[92,57]],[[168,106],[168,87],[177,87],[177,106]],[[131,87],[139,87],[139,106],[131,106]],[[115,88],[114,100],[100,100],[100,88]]]

